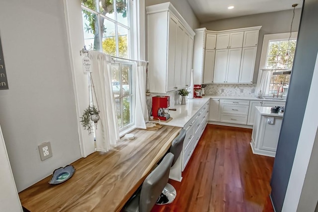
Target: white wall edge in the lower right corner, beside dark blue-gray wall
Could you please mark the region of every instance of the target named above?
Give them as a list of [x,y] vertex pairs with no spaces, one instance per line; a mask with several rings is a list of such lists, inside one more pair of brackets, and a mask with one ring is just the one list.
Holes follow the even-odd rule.
[[[308,96],[283,212],[312,212],[318,201],[318,57]],[[304,103],[305,104],[305,103]],[[309,168],[311,166],[311,169]],[[305,182],[307,181],[307,184]]]

